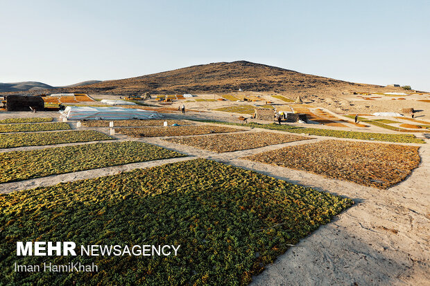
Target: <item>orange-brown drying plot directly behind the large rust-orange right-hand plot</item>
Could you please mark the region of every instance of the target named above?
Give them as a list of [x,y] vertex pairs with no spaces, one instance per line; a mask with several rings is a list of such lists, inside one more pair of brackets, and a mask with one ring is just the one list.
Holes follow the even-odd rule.
[[200,148],[203,150],[224,153],[308,139],[310,138],[293,134],[246,132],[236,134],[193,136],[186,138],[167,138],[164,140]]

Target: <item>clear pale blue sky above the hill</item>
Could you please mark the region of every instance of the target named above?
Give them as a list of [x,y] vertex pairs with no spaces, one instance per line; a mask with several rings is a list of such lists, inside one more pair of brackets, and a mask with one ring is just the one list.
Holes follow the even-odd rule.
[[430,91],[430,1],[0,0],[0,82],[234,60]]

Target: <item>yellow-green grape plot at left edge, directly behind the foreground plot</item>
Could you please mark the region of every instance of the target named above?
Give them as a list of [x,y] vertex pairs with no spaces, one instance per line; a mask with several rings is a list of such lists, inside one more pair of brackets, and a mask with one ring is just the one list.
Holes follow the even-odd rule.
[[3,152],[0,183],[177,157],[185,155],[137,141]]

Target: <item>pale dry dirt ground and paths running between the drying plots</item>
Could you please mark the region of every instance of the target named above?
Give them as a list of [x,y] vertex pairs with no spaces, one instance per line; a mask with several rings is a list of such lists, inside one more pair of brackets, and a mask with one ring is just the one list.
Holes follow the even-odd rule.
[[[393,100],[394,101],[394,100]],[[1,118],[11,116],[55,116],[58,114],[0,113]],[[232,120],[231,114],[169,114],[169,118],[212,118]],[[76,123],[71,123],[75,128]],[[381,131],[369,127],[366,131]],[[85,128],[83,128],[85,129]],[[107,133],[107,128],[92,128]],[[248,129],[248,127],[243,127]],[[264,129],[254,131],[266,132]],[[270,130],[270,132],[277,132]],[[390,130],[384,130],[387,133]],[[130,140],[116,135],[119,140]],[[216,154],[185,145],[163,141],[161,138],[138,138],[170,150],[176,150],[189,157],[166,159],[144,163],[132,163],[74,172],[64,175],[30,179],[0,184],[0,193],[15,190],[49,186],[62,181],[74,181],[115,174],[134,168],[147,168],[164,163],[203,157],[228,163],[241,168],[261,172],[284,179],[293,184],[311,186],[322,192],[334,193],[354,199],[356,204],[338,215],[331,223],[291,247],[279,256],[273,265],[268,265],[252,285],[429,285],[430,281],[430,140],[420,145],[421,163],[402,183],[379,190],[337,179],[329,179],[309,172],[270,166],[264,163],[239,159],[258,152],[275,150],[289,145],[317,142],[331,137],[312,136],[314,139],[279,145],[270,145],[254,150],[243,150]],[[335,138],[336,139],[336,138]],[[348,140],[348,139],[336,139]],[[352,141],[356,141],[350,139]],[[63,144],[63,145],[75,145]],[[414,145],[414,144],[411,144]],[[415,144],[416,145],[416,144]],[[45,146],[46,147],[46,146]],[[12,150],[31,150],[39,147],[24,147]],[[355,284],[356,283],[356,284]]]

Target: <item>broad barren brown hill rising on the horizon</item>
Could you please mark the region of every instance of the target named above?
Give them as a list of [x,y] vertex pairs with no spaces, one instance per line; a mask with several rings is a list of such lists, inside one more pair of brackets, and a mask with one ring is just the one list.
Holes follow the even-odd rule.
[[[106,80],[84,87],[64,87],[55,92],[92,94],[130,93],[224,93],[238,91],[274,91],[302,95],[336,96],[344,91],[397,91],[398,88],[357,84],[308,75],[252,62],[217,62],[153,73],[137,78]],[[52,92],[52,90],[51,90]]]

